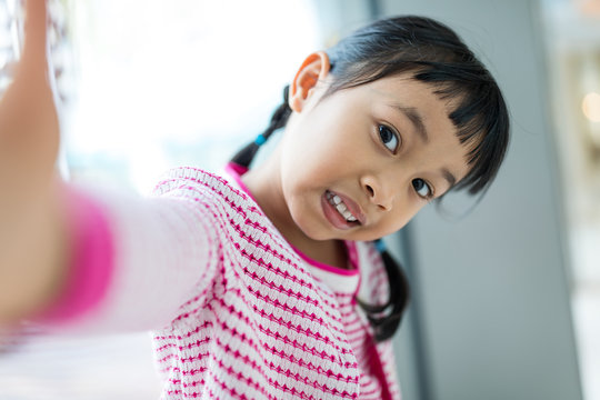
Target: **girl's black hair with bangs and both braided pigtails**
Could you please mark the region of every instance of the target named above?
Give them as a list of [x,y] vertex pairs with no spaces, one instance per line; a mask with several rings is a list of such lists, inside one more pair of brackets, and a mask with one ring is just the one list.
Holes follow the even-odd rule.
[[[468,174],[452,190],[484,193],[496,178],[509,141],[509,114],[502,93],[486,67],[447,26],[424,17],[382,19],[327,50],[331,81],[323,97],[378,79],[409,73],[431,84],[440,99],[453,108],[449,119],[467,147]],[[286,126],[291,110],[284,101],[269,128],[238,152],[232,162],[249,167],[260,144]],[[380,243],[380,242],[378,242]],[[376,340],[397,331],[409,299],[408,280],[390,254],[378,246],[386,264],[390,299],[369,306],[358,300],[376,332]]]

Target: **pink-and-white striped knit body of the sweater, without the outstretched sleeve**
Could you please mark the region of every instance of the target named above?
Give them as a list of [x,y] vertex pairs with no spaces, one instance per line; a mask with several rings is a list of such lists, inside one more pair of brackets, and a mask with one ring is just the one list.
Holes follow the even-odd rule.
[[[354,302],[358,279],[343,290],[327,284],[352,273],[332,268],[317,279],[311,269],[318,267],[222,178],[182,168],[157,193],[204,199],[198,207],[217,230],[211,252],[219,260],[210,284],[202,282],[171,324],[154,332],[163,399],[400,397],[391,346],[374,346]],[[369,289],[368,280],[381,276],[381,260],[371,246],[359,244],[361,292],[377,293],[382,282]]]

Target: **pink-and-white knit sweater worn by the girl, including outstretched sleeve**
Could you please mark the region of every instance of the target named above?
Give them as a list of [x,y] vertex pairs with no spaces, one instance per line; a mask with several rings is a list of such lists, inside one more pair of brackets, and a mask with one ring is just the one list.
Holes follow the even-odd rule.
[[293,249],[243,188],[180,168],[144,200],[72,194],[76,262],[46,320],[152,330],[162,399],[399,399],[391,343],[356,297],[384,301],[377,250],[351,266]]

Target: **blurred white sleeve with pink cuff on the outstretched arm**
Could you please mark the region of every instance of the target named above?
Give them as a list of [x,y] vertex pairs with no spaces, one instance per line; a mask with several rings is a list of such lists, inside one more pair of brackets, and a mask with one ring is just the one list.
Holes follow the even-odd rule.
[[[106,333],[163,328],[187,301],[202,303],[210,296],[219,270],[217,223],[207,207],[210,193],[191,187],[183,191],[157,198],[73,191],[80,256],[71,266],[70,288],[54,307],[62,311],[50,310],[46,318],[53,329]],[[102,240],[106,244],[96,246]]]

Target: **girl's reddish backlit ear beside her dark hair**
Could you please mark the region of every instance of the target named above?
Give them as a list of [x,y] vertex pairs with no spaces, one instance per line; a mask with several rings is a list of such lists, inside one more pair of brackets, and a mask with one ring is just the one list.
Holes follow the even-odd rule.
[[329,57],[324,51],[311,53],[296,73],[290,86],[289,106],[296,111],[302,111],[317,84],[329,73]]

